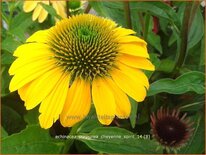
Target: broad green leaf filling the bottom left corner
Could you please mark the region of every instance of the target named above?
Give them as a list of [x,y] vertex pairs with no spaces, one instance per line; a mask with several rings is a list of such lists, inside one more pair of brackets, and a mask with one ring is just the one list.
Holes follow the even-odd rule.
[[3,154],[58,154],[63,145],[52,139],[48,130],[30,125],[20,133],[3,138],[1,151]]

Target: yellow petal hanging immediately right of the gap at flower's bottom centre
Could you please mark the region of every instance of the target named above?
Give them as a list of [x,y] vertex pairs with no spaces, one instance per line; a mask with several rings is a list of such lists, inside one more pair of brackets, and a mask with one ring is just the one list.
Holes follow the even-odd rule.
[[116,113],[115,99],[108,84],[101,78],[92,83],[92,99],[98,120],[104,125],[109,125]]

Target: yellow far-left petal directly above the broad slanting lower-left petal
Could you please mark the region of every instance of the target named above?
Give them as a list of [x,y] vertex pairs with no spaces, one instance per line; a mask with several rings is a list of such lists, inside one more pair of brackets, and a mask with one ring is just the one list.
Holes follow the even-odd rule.
[[54,67],[53,61],[38,61],[28,64],[15,71],[15,75],[11,79],[9,90],[11,92],[23,87],[25,84],[36,79],[40,75],[49,71]]

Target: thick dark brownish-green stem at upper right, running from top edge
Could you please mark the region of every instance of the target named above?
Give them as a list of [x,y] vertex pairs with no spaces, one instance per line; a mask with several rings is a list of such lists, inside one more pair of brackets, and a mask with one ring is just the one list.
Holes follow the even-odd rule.
[[191,8],[192,8],[192,5],[190,4],[190,2],[187,2],[186,7],[185,7],[185,12],[184,12],[184,17],[183,17],[181,34],[180,34],[180,48],[176,56],[176,65],[173,69],[174,75],[176,75],[179,68],[184,63],[184,60],[186,57]]

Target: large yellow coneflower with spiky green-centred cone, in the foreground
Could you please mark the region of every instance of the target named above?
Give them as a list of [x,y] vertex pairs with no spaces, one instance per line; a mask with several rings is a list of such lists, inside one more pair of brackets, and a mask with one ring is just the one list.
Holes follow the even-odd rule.
[[[83,14],[64,19],[29,37],[14,52],[10,91],[18,90],[26,109],[41,103],[40,125],[59,119],[73,126],[85,118],[91,102],[102,124],[127,118],[127,95],[144,100],[154,70],[146,42],[109,19]],[[127,94],[127,95],[126,95]]]

